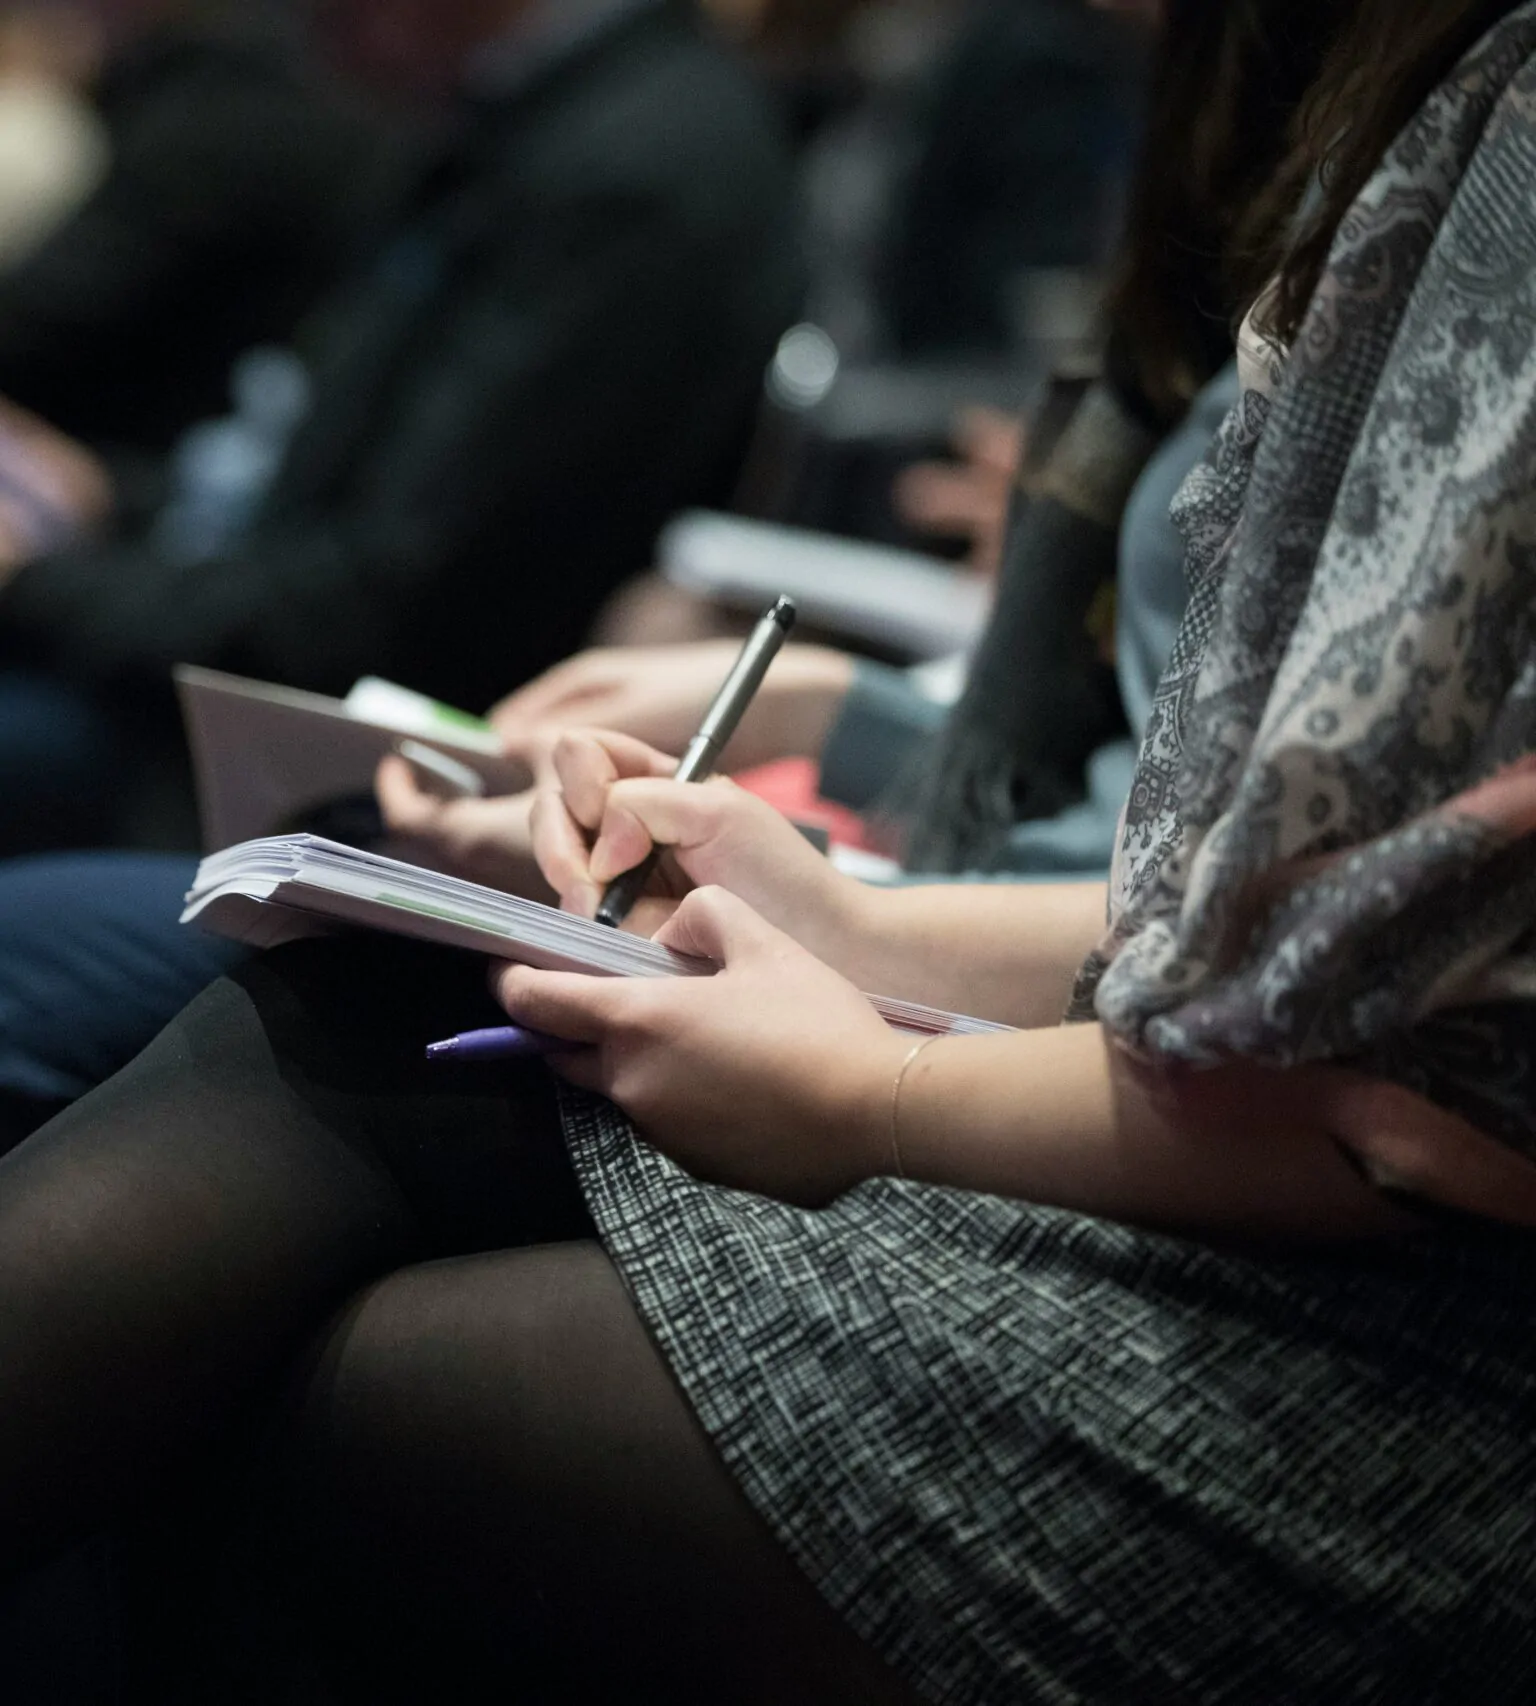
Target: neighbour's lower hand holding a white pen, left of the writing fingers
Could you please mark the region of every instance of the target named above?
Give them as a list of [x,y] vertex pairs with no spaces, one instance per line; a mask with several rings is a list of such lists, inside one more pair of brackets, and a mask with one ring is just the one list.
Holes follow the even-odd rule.
[[536,790],[493,800],[444,798],[391,756],[379,766],[374,792],[391,839],[415,863],[524,899],[555,899],[532,853]]

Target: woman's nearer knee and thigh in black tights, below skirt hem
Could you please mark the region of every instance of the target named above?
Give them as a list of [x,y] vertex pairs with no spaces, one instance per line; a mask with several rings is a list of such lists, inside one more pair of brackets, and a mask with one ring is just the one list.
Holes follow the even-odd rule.
[[370,1699],[911,1699],[751,1510],[596,1244],[372,1286],[278,1476],[280,1570]]

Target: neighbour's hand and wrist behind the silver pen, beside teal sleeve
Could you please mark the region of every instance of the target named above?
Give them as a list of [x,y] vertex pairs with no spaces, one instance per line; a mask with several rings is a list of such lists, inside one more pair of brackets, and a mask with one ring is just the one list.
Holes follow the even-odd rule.
[[[492,723],[519,757],[565,728],[616,728],[681,752],[739,652],[739,640],[582,652],[502,699]],[[852,679],[853,664],[841,652],[785,647],[725,763],[748,769],[780,757],[816,757]]]

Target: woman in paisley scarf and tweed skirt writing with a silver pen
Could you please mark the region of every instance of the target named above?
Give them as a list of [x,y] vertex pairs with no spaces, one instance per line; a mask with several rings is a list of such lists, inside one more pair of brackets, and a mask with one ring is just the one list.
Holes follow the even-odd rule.
[[442,955],[215,986],[0,1163],[0,1563],[258,1411],[369,1699],[1529,1697],[1536,0],[1341,10],[1108,926],[568,739],[720,972],[498,971],[558,1124]]

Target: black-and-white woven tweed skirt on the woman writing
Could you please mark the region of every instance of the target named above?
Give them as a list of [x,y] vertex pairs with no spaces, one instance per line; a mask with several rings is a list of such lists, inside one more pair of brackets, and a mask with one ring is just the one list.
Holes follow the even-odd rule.
[[927,1699],[1536,1699],[1536,1242],[1217,1254],[896,1181],[809,1213],[563,1114],[732,1474]]

